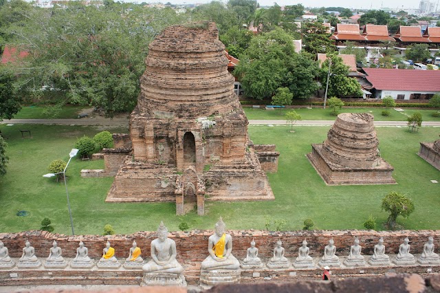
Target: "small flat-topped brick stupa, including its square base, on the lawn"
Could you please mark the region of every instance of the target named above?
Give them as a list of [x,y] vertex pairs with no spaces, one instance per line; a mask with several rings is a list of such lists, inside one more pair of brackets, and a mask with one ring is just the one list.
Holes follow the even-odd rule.
[[373,115],[342,113],[322,144],[312,144],[311,164],[329,185],[395,184],[393,166],[380,158]]

